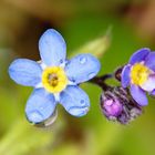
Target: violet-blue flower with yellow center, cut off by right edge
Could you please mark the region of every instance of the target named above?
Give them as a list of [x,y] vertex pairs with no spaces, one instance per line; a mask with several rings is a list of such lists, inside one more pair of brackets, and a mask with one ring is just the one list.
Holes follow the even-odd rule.
[[122,71],[122,86],[131,85],[133,99],[147,105],[146,92],[155,94],[155,52],[144,48],[136,51]]

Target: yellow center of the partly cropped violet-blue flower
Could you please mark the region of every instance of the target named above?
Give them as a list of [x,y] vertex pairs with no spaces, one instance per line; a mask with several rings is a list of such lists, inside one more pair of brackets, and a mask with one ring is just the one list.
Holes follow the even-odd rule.
[[151,70],[142,63],[134,64],[131,70],[132,83],[136,85],[144,84],[147,81],[149,73]]

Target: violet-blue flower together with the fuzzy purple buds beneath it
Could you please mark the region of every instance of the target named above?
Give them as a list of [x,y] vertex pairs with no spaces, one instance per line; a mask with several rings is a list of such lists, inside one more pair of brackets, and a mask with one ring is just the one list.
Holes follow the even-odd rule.
[[101,107],[107,120],[127,124],[147,105],[146,93],[155,95],[155,53],[147,48],[136,51],[114,76],[122,86],[101,86]]

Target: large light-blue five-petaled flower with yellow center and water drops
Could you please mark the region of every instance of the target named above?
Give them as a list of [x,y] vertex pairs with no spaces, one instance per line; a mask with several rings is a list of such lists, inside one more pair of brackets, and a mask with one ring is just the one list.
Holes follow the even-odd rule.
[[74,116],[83,116],[90,107],[87,94],[80,83],[94,78],[100,62],[91,54],[79,54],[66,60],[66,44],[62,35],[46,30],[39,40],[41,61],[14,60],[9,66],[10,78],[18,84],[33,86],[25,106],[30,122],[46,121],[58,103]]

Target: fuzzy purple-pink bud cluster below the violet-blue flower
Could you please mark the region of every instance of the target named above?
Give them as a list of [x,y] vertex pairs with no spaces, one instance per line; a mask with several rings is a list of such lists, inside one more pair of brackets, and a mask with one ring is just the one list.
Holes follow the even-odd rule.
[[142,107],[121,86],[111,87],[101,95],[101,108],[110,121],[127,124],[142,114]]

